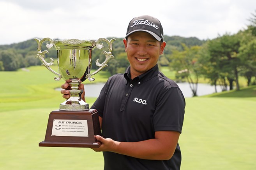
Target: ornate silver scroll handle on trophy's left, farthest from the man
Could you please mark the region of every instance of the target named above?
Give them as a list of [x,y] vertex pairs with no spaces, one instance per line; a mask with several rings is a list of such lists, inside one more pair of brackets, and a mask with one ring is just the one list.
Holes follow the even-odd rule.
[[51,71],[53,74],[57,75],[58,77],[54,77],[54,80],[59,81],[61,79],[61,75],[59,73],[56,73],[53,69],[50,68],[51,65],[53,65],[53,59],[51,59],[51,62],[48,63],[44,59],[44,55],[48,54],[49,52],[47,50],[41,51],[42,49],[42,43],[45,41],[49,41],[50,43],[46,44],[46,47],[48,49],[51,49],[54,45],[54,42],[51,38],[43,38],[42,40],[38,38],[34,38],[34,40],[37,42],[37,55],[35,57],[39,58],[42,61],[42,65],[45,66],[49,71]]

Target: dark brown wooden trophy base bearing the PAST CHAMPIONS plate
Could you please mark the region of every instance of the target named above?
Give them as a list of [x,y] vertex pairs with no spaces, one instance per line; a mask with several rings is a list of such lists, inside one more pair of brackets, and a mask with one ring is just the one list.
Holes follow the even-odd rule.
[[39,146],[90,147],[101,146],[95,136],[101,135],[98,111],[52,111],[49,114],[44,141]]

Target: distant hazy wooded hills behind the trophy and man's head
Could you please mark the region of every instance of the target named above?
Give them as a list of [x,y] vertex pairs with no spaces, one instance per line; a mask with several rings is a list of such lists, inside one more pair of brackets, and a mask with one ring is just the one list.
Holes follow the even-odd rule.
[[[109,37],[111,38],[115,37]],[[41,38],[42,39],[42,38]],[[112,59],[108,65],[109,67],[105,68],[111,73],[111,75],[115,73],[122,73],[125,71],[127,66],[129,66],[129,62],[126,59],[126,53],[124,51],[123,38],[115,38],[116,40],[113,42],[113,52],[112,54],[115,56],[115,59]],[[182,50],[182,43],[186,45],[202,45],[205,41],[199,40],[198,38],[184,38],[180,36],[165,36],[166,41],[168,42],[168,46],[166,47],[166,55],[171,54],[173,49]],[[46,43],[44,42],[42,45],[42,50],[48,50],[49,54],[45,55],[46,61],[50,62],[50,58],[53,58],[56,62],[57,53],[55,48],[48,49],[46,47]],[[93,50],[93,63],[92,68],[97,69],[95,65],[95,60],[99,58],[99,62],[104,61],[104,55],[101,54],[102,50],[108,51],[108,46],[104,44],[104,49]],[[37,42],[34,39],[27,40],[25,42],[13,43],[11,45],[0,45],[0,71],[16,71],[19,68],[24,68],[28,66],[36,66],[41,65],[41,61],[35,58],[37,54]],[[167,59],[161,59],[161,65],[168,65]]]

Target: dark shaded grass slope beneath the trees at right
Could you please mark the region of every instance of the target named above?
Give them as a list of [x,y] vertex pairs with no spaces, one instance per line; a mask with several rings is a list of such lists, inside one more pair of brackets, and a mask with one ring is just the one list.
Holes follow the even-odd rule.
[[256,97],[256,85],[241,88],[241,90],[230,90],[222,93],[207,95],[207,97]]

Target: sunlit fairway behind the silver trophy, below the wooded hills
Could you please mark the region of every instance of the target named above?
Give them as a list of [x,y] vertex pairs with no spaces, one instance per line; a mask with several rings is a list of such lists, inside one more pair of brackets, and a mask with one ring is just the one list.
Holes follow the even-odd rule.
[[[56,66],[52,68],[57,70]],[[62,79],[55,81],[55,75],[43,66],[32,66],[27,71],[2,71],[0,77],[5,78],[0,83],[0,103],[51,100],[60,94],[54,89],[64,84]],[[109,73],[101,71],[94,77],[94,82],[85,80],[85,83],[106,82]]]

